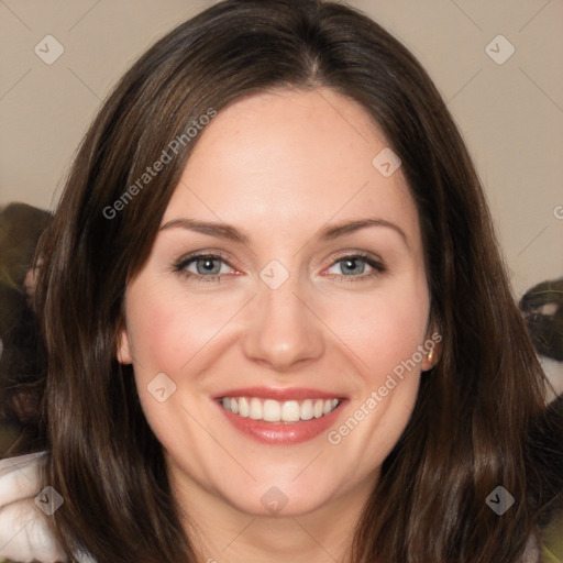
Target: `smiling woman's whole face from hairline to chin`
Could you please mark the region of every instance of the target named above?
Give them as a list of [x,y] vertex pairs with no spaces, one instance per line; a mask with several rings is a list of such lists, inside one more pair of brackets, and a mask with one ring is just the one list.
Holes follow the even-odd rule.
[[245,98],[199,135],[119,352],[172,481],[253,515],[365,499],[429,368],[401,168],[327,88]]

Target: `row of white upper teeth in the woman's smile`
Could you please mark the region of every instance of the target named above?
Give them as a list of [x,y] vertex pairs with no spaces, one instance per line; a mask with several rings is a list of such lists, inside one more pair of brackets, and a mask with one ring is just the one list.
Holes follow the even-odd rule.
[[321,418],[332,412],[340,399],[305,399],[301,401],[258,399],[257,397],[223,397],[221,405],[240,417],[266,422],[298,422]]

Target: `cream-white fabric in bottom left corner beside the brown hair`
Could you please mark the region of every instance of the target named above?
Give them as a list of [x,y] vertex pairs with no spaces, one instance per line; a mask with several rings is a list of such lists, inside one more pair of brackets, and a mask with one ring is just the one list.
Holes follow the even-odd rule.
[[[0,460],[0,562],[67,561],[42,509],[40,470],[45,452]],[[46,505],[48,505],[48,499]]]

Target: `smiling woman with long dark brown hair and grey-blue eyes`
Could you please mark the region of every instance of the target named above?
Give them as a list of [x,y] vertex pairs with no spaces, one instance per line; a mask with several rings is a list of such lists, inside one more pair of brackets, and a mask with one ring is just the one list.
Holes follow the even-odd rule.
[[444,102],[360,12],[229,0],[161,40],[38,255],[67,558],[539,561],[545,380]]

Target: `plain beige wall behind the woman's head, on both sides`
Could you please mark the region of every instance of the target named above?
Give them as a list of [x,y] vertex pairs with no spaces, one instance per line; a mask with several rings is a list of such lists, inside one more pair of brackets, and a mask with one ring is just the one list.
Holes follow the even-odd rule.
[[[110,87],[156,38],[211,3],[0,0],[0,205],[53,208]],[[350,3],[402,41],[448,100],[487,190],[517,296],[561,277],[563,0]],[[47,34],[64,47],[52,65],[34,53]],[[516,49],[501,65],[485,51],[498,34]]]

